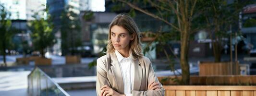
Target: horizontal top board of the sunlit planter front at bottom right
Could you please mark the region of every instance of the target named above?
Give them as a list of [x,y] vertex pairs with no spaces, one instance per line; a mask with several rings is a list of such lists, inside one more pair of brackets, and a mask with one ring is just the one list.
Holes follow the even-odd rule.
[[256,86],[240,86],[240,85],[216,85],[216,86],[205,86],[205,85],[163,85],[166,90],[219,90],[219,91],[234,91],[234,90],[244,90],[244,91],[253,91],[256,90]]

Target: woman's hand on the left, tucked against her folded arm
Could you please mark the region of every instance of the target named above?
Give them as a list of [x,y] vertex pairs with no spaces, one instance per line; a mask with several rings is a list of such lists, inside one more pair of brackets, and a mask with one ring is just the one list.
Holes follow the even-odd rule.
[[108,85],[102,86],[100,90],[101,90],[100,96],[125,96],[116,92],[114,89],[110,88],[110,86]]

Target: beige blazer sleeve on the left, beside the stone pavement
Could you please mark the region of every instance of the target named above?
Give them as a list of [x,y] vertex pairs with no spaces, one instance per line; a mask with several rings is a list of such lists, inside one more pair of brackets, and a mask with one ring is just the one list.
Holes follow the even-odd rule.
[[110,82],[107,78],[107,71],[106,71],[106,63],[104,63],[100,58],[97,59],[97,81],[96,81],[96,91],[97,96],[100,96],[100,88],[104,85],[109,85]]

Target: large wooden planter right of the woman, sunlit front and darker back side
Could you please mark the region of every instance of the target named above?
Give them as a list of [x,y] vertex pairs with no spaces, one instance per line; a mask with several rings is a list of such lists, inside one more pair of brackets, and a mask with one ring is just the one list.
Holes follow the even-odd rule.
[[[165,96],[256,96],[256,75],[191,76],[190,85],[175,85],[171,79],[163,82],[164,78],[167,77],[158,80],[163,84]],[[223,83],[230,85],[218,85]],[[239,85],[243,83],[250,85]]]

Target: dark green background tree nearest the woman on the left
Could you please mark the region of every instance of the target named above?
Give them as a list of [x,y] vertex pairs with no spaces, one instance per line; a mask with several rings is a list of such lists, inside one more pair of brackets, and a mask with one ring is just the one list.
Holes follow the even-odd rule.
[[74,55],[76,48],[81,46],[82,42],[79,14],[69,10],[72,8],[67,6],[61,14],[61,49],[64,54],[71,51]]

